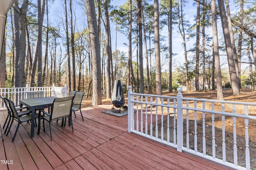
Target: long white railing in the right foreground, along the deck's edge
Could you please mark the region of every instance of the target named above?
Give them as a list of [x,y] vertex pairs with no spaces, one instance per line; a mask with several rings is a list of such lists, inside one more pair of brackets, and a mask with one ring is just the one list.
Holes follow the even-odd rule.
[[255,165],[249,141],[256,103],[183,98],[181,90],[176,97],[157,96],[133,93],[129,86],[128,132],[232,168]]

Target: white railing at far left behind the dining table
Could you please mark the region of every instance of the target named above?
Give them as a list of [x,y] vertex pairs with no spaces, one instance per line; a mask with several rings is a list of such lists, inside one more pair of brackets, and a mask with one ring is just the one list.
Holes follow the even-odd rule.
[[[18,105],[20,99],[27,98],[27,92],[32,91],[42,91],[44,97],[54,96],[58,98],[67,96],[67,85],[64,87],[56,87],[55,84],[50,87],[29,87],[28,84],[26,87],[21,88],[0,88],[0,96],[8,98]],[[6,109],[4,101],[0,99],[0,110]]]

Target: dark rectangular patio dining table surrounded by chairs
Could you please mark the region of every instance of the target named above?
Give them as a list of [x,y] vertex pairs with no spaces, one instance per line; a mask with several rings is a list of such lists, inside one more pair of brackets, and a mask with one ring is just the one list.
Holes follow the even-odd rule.
[[[20,105],[25,105],[32,110],[31,120],[31,138],[34,137],[34,120],[36,109],[50,108],[53,105],[53,101],[56,97],[44,97],[44,98],[31,98],[31,99],[20,99]],[[39,117],[40,118],[40,117]],[[40,122],[38,123],[38,134],[40,133]]]

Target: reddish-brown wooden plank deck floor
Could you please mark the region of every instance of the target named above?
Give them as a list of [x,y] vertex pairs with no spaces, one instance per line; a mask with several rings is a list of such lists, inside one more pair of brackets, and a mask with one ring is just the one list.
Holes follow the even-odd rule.
[[53,141],[48,123],[45,133],[41,126],[40,135],[36,134],[35,128],[33,139],[30,138],[30,123],[23,123],[13,143],[12,135],[16,127],[12,125],[10,134],[6,136],[2,127],[7,113],[0,111],[0,170],[228,169],[128,133],[127,115],[116,117],[102,113],[111,106],[83,108],[84,121],[76,112],[76,118],[73,117],[74,133],[71,127],[61,127],[60,121],[53,123]]

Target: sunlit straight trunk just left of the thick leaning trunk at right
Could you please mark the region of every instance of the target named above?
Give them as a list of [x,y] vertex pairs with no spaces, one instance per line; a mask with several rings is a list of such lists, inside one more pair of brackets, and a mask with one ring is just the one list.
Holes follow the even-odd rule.
[[[222,92],[222,81],[220,72],[220,55],[219,55],[219,45],[218,45],[218,30],[217,30],[217,15],[216,15],[216,4],[215,0],[211,1],[212,10],[212,34],[213,34],[213,51],[215,60],[215,70],[216,70],[216,85],[217,85],[217,100],[224,100]],[[214,90],[214,86],[212,87]]]

